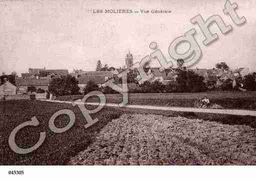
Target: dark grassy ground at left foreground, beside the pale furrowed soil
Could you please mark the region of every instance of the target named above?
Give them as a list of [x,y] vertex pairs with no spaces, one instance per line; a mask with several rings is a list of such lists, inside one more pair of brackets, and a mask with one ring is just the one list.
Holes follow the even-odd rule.
[[[75,113],[75,124],[64,133],[53,133],[48,127],[50,117],[61,109],[70,109]],[[86,120],[78,107],[70,104],[48,103],[31,100],[10,100],[0,102],[0,164],[1,165],[62,165],[77,152],[95,140],[95,135],[109,121],[120,115],[116,109],[102,109],[91,114],[99,122],[85,129]],[[21,129],[15,138],[16,144],[21,148],[33,146],[39,139],[40,132],[46,132],[43,144],[29,154],[14,153],[8,146],[10,132],[19,124],[31,120],[33,116],[39,121],[36,127]],[[60,115],[55,120],[58,128],[68,124],[66,115]]]

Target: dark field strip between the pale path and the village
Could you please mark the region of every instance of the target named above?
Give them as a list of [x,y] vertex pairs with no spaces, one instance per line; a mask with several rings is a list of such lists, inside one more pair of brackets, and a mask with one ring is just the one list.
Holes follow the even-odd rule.
[[[194,100],[208,96],[211,103],[226,109],[256,110],[256,91],[250,92],[208,92],[208,93],[134,93],[128,94],[128,104],[194,107]],[[58,100],[72,101],[83,95],[61,96]],[[89,98],[88,102],[97,98]],[[121,94],[106,94],[107,103],[121,103]]]

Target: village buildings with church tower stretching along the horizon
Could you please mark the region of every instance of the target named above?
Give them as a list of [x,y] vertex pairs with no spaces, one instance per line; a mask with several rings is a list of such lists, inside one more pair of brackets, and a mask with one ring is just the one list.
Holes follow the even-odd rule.
[[[21,76],[15,76],[15,82],[11,83],[7,78],[4,78],[3,84],[0,86],[0,96],[5,96],[6,99],[23,99],[24,94],[34,93],[36,94],[36,99],[48,99],[52,98],[49,94],[49,85],[54,78],[59,78],[61,76],[70,75],[78,81],[79,92],[83,94],[84,88],[89,81],[93,81],[99,87],[104,86],[104,83],[114,78],[116,75],[122,71],[130,68],[133,65],[133,55],[128,52],[125,56],[125,65],[120,68],[103,66],[100,61],[98,68],[95,71],[84,71],[84,70],[73,70],[68,72],[67,69],[46,69],[44,68],[29,68],[27,73],[21,73]],[[150,81],[158,81],[165,85],[175,82],[177,79],[177,74],[173,73],[173,70],[160,71],[160,68],[150,67],[150,65],[144,68],[147,74],[153,74],[153,79]],[[239,78],[246,76],[250,73],[249,68],[238,68],[236,70],[230,70],[229,68],[213,68],[213,69],[202,69],[195,68],[189,69],[195,74],[202,76],[204,82],[209,84],[208,88],[220,89],[223,83],[229,80],[232,86],[235,88],[239,84]],[[135,74],[135,79],[139,79],[138,73]],[[210,85],[211,84],[211,85]],[[239,89],[246,91],[243,88],[243,84],[239,84]],[[128,86],[132,88],[139,88],[140,84],[136,82],[129,83]],[[28,96],[26,96],[28,97]]]

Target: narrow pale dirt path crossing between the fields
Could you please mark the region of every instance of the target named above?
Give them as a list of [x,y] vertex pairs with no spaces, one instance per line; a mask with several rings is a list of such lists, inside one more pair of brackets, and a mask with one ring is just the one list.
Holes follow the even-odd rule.
[[[41,100],[54,103],[69,103],[69,104],[87,104],[87,105],[99,105],[98,103],[84,103],[84,102],[72,102],[72,101],[58,101],[58,100]],[[119,107],[118,104],[107,103],[108,107]],[[252,110],[239,110],[239,109],[199,109],[199,108],[185,108],[185,107],[166,107],[166,106],[147,106],[147,105],[126,105],[123,108],[137,108],[137,109],[151,109],[151,110],[163,110],[163,111],[181,111],[181,112],[197,112],[197,113],[213,113],[213,114],[229,114],[240,116],[256,116],[256,111]]]

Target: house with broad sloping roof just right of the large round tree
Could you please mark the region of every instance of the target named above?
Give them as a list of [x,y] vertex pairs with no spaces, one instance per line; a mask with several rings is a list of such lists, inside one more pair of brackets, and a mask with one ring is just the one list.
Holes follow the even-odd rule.
[[80,88],[80,92],[83,92],[84,87],[88,83],[88,81],[93,81],[96,83],[99,87],[102,86],[102,84],[105,83],[105,77],[104,76],[92,76],[92,75],[82,75],[77,78],[78,86]]

